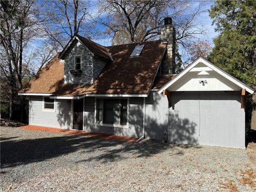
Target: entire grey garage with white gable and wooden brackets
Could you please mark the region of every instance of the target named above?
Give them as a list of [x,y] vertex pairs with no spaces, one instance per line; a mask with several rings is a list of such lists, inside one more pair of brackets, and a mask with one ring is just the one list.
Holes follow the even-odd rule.
[[200,57],[158,90],[169,102],[167,140],[245,147],[245,94],[254,90]]

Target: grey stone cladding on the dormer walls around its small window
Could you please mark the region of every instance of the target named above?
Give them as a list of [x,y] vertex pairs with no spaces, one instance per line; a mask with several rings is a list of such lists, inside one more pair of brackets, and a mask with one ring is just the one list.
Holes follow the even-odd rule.
[[[81,55],[81,74],[72,74],[75,69],[75,56]],[[92,84],[105,67],[107,61],[92,55],[90,50],[75,40],[65,54],[64,83],[65,84]]]

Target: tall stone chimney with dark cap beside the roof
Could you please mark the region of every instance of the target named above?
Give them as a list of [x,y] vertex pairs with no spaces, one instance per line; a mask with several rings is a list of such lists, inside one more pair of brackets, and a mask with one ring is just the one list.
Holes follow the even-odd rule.
[[167,43],[167,50],[161,65],[161,75],[173,74],[175,69],[175,29],[172,25],[172,18],[164,19],[164,26],[161,28],[161,41]]

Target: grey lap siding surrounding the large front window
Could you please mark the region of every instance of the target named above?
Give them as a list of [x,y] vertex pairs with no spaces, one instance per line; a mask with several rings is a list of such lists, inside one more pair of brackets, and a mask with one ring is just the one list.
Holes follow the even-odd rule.
[[129,100],[129,127],[111,127],[94,125],[95,98],[85,98],[84,130],[104,134],[125,135],[141,137],[143,135],[143,98],[130,98]]

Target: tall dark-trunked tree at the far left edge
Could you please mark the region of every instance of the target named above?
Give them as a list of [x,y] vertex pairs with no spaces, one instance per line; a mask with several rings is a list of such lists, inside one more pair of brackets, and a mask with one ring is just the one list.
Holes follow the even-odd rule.
[[[31,1],[1,1],[1,51],[3,60],[1,80],[9,82],[10,119],[13,115],[13,101],[17,90],[22,88],[22,53],[31,37],[28,28],[34,21],[29,17]],[[21,102],[25,102],[21,99]],[[23,113],[22,113],[23,114]]]

